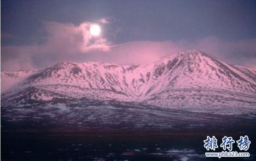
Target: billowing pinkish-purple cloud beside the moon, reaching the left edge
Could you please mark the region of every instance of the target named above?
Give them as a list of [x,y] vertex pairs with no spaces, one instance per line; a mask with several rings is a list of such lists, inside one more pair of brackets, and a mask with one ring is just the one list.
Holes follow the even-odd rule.
[[43,22],[43,44],[1,46],[1,69],[43,68],[62,61],[76,61],[73,56],[92,50],[108,51],[109,42],[89,33],[91,22],[78,26],[70,23]]

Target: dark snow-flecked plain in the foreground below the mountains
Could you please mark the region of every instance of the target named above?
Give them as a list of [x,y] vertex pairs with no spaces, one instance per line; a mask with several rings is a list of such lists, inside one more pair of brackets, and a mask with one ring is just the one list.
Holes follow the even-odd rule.
[[[198,118],[202,118],[198,114]],[[172,128],[90,126],[88,128],[24,128],[14,125],[1,128],[3,161],[204,161],[206,136],[216,136],[218,145],[223,136],[238,140],[247,135],[251,141],[249,158],[256,159],[256,120],[245,117],[183,120]],[[178,122],[178,120],[177,120]],[[2,120],[2,125],[5,125]],[[4,128],[12,127],[12,128]],[[221,152],[218,148],[215,152]],[[233,144],[233,151],[240,151]],[[213,151],[212,151],[213,152]],[[221,159],[221,160],[222,160]]]

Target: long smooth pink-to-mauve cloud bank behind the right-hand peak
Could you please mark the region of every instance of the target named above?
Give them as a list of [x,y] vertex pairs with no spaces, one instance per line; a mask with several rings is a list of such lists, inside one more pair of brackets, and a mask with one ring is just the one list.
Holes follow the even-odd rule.
[[[256,39],[224,41],[216,36],[196,40],[150,42],[138,41],[113,45],[104,54],[87,57],[90,61],[115,64],[145,64],[184,50],[198,49],[229,64],[252,65],[256,60]],[[256,64],[255,64],[256,65]]]

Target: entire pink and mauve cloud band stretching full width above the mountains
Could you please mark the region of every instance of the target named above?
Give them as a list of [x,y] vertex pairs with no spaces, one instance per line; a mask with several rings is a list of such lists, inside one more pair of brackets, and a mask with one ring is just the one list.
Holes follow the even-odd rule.
[[180,41],[137,41],[110,45],[89,34],[92,23],[81,25],[44,22],[46,42],[38,45],[1,46],[1,69],[44,68],[58,62],[104,61],[147,64],[183,50],[198,49],[230,64],[254,65],[256,39],[224,41],[216,36]]

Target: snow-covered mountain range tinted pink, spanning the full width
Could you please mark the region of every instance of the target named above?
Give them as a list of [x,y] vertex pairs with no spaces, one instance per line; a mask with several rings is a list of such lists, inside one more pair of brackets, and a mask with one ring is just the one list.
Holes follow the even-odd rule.
[[256,113],[256,71],[229,65],[198,50],[135,66],[60,63],[40,71],[1,72],[2,88],[6,82],[1,106],[10,108],[86,99],[214,114]]

